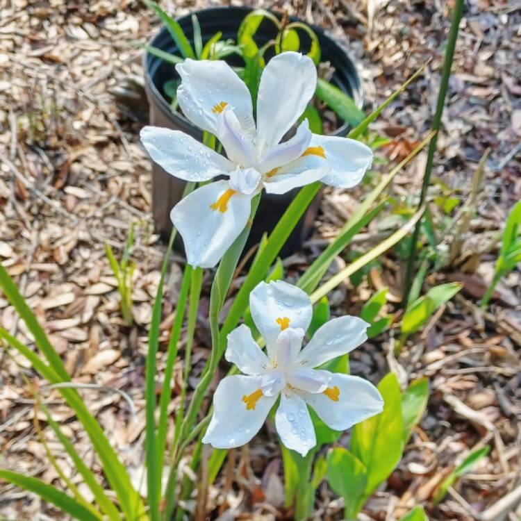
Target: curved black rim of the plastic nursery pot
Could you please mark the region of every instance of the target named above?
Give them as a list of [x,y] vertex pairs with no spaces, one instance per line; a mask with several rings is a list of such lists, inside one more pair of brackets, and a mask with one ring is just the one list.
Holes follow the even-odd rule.
[[[190,10],[185,15],[176,17],[176,20],[178,22],[180,22],[181,20],[187,19],[188,17],[192,17],[192,15],[198,16],[201,13],[208,13],[208,12],[213,12],[216,15],[218,13],[229,13],[230,10],[233,10],[235,12],[245,13],[245,15],[247,15],[247,13],[251,13],[251,11],[253,11],[255,9],[251,8],[249,6],[210,7],[210,8],[204,8],[204,9]],[[266,9],[266,10],[269,11],[270,13],[274,14],[278,18],[283,16],[282,13],[279,13],[278,11],[274,11],[271,9]],[[307,22],[304,22],[303,19],[301,19],[299,17],[295,17],[295,16],[290,16],[290,19],[293,22],[298,21],[298,22],[303,22],[304,24],[308,25],[309,27],[311,27],[313,29],[313,31],[315,31],[315,33],[317,34],[317,36],[319,36],[319,38],[324,38],[326,40],[329,40],[329,42],[333,45],[333,47],[336,47],[336,50],[338,52],[344,54],[345,60],[347,61],[347,63],[352,65],[352,68],[355,72],[354,81],[351,84],[352,89],[353,89],[353,94],[354,94],[353,100],[358,108],[362,108],[364,97],[363,97],[361,78],[360,78],[360,75],[358,74],[358,69],[356,68],[355,63],[352,60],[351,56],[349,56],[349,53],[347,52],[347,49],[345,49],[345,46],[338,43],[336,40],[333,40],[333,38],[331,38],[331,36],[329,36],[326,33],[326,31],[324,31],[323,28],[316,26],[315,24],[308,24]],[[155,40],[162,33],[165,33],[165,32],[167,32],[167,28],[162,24],[160,30],[149,39],[148,45],[154,46]],[[189,130],[192,135],[202,136],[201,129],[199,129],[199,127],[192,124],[192,122],[190,122],[190,120],[187,117],[185,117],[183,114],[179,113],[178,111],[172,112],[172,110],[170,110],[170,106],[167,103],[167,100],[165,99],[163,94],[161,94],[158,87],[156,86],[156,83],[154,83],[154,81],[151,77],[150,70],[149,70],[149,59],[160,60],[161,58],[158,58],[158,57],[154,56],[153,54],[150,54],[148,51],[145,51],[143,53],[142,65],[143,65],[143,69],[144,69],[144,86],[145,86],[145,90],[147,90],[147,94],[149,94],[149,97],[154,99],[156,106],[163,113],[163,115],[165,115],[165,117],[167,117],[168,119],[172,118],[172,119],[176,120],[176,123],[179,124],[179,126],[185,127],[185,129],[187,131]],[[349,125],[346,122],[344,122],[333,133],[329,133],[326,135],[343,137],[343,136],[347,135],[348,131],[349,131]]]

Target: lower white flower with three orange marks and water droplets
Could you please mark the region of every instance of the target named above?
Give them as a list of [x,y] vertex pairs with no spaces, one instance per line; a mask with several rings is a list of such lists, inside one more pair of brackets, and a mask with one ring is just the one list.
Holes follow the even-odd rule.
[[383,400],[372,383],[314,369],[361,345],[368,324],[358,317],[334,318],[301,349],[313,313],[304,291],[283,281],[261,282],[251,292],[249,305],[267,354],[244,324],[229,334],[226,360],[244,374],[219,383],[204,443],[230,449],[249,442],[279,395],[276,430],[282,443],[302,456],[316,445],[307,405],[337,431],[381,413]]

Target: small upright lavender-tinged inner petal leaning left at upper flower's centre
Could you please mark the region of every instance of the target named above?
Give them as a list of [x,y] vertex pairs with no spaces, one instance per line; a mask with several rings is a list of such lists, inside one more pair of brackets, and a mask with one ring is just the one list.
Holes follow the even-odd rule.
[[[217,116],[217,139],[220,140],[226,156],[236,165],[243,168],[251,167],[256,162],[256,151],[254,144],[242,130],[240,122],[231,108],[225,108]],[[310,137],[311,139],[311,137]]]

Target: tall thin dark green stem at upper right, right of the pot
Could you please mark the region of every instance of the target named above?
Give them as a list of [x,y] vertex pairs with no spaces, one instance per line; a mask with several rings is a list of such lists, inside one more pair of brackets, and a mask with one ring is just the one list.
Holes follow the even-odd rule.
[[[447,90],[449,87],[449,77],[452,68],[452,61],[454,59],[454,49],[456,48],[456,40],[458,39],[459,24],[463,15],[463,0],[456,0],[456,6],[454,6],[454,13],[452,13],[452,24],[450,26],[449,40],[447,41],[447,48],[445,49],[445,59],[443,60],[443,70],[441,74],[440,90],[438,91],[438,103],[436,105],[436,112],[432,120],[431,130],[436,131],[436,135],[433,136],[429,143],[429,149],[427,151],[427,163],[425,165],[425,172],[423,176],[422,192],[420,195],[420,204],[423,206],[427,197],[427,189],[431,183],[431,172],[434,163],[434,152],[436,151],[436,143],[438,142],[438,132],[441,126],[441,117],[443,115],[443,108],[445,106],[445,97],[447,96]],[[415,226],[413,237],[411,240],[411,249],[409,250],[409,256],[407,260],[407,269],[404,284],[404,307],[408,303],[408,294],[411,290],[411,283],[413,281],[414,263],[416,258],[416,249],[418,238],[420,237],[420,226],[421,222],[418,222]]]

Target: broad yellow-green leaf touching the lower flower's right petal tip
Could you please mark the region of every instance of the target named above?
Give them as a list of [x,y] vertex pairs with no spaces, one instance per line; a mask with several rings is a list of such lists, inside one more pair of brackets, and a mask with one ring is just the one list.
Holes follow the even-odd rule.
[[394,373],[379,383],[383,412],[355,425],[351,450],[367,469],[365,496],[371,495],[396,468],[404,449],[402,393]]

